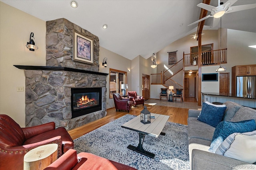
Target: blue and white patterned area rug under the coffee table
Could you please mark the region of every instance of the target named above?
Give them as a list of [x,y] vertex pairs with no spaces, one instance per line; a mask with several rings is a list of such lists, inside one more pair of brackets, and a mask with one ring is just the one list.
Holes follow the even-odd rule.
[[156,154],[149,158],[127,149],[128,145],[138,146],[139,135],[121,125],[133,119],[124,115],[90,133],[74,140],[78,153],[90,152],[104,158],[132,166],[138,170],[189,170],[187,125],[167,122],[165,136],[145,136],[143,148]]

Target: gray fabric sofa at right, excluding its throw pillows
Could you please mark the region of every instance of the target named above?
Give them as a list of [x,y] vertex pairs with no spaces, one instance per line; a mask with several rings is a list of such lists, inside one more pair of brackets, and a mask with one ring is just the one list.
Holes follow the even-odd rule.
[[[256,110],[240,106],[234,102],[225,102],[226,111],[224,121],[243,121],[254,119]],[[208,151],[212,141],[215,127],[198,121],[200,110],[189,109],[188,111],[188,139],[191,170],[230,170],[230,169],[256,169],[256,165],[242,162],[233,158],[218,155]],[[243,166],[239,166],[243,165]]]

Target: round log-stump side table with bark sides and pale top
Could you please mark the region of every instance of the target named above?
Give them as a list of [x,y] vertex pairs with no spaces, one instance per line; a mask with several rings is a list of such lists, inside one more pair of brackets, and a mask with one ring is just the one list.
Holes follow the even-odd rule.
[[42,145],[24,155],[24,170],[43,170],[58,158],[56,143]]

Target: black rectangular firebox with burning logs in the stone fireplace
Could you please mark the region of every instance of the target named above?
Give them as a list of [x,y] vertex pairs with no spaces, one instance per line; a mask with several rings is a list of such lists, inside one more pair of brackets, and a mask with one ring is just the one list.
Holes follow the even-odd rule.
[[102,109],[101,88],[71,88],[72,118]]

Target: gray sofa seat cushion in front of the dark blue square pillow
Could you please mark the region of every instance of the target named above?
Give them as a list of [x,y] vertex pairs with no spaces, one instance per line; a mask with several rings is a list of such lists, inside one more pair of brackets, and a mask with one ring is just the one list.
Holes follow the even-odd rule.
[[[188,137],[212,141],[215,128],[204,122],[198,121],[197,117],[188,117]],[[210,146],[210,145],[209,145]]]

